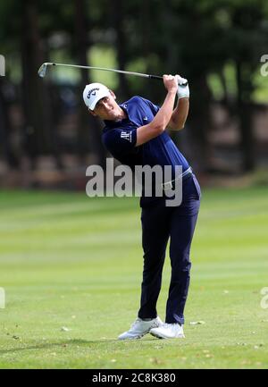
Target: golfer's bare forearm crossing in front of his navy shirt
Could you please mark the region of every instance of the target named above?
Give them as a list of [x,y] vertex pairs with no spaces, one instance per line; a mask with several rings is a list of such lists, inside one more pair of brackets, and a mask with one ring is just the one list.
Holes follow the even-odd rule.
[[163,133],[163,130],[165,130],[171,120],[175,97],[176,91],[168,91],[163,105],[155,115],[154,120],[137,129],[136,147],[146,143],[150,139],[155,139],[155,137]]

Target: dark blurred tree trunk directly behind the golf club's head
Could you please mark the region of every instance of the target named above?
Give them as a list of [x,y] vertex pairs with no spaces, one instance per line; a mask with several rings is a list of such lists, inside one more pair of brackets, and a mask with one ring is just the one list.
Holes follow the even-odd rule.
[[58,156],[48,89],[46,82],[38,77],[38,67],[42,62],[37,6],[33,0],[25,0],[21,25],[21,98],[25,116],[25,150],[33,167],[38,155],[54,153]]

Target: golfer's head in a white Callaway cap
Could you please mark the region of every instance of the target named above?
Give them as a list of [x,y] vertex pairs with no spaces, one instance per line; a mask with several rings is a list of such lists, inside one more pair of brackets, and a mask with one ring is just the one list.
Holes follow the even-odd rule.
[[113,119],[113,110],[117,106],[112,90],[102,83],[90,83],[83,91],[83,98],[88,111],[104,120]]

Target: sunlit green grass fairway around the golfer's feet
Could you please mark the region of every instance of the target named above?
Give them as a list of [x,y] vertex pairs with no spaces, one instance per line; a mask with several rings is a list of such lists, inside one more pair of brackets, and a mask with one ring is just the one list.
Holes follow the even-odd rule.
[[[267,187],[204,189],[186,339],[171,341],[116,340],[138,311],[138,198],[4,191],[0,207],[1,368],[267,368]],[[167,256],[163,319],[169,277]]]

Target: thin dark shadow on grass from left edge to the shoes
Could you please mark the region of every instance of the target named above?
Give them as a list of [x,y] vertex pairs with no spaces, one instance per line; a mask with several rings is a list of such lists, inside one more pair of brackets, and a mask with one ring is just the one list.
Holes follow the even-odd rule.
[[[148,339],[146,341],[157,341],[155,338]],[[134,342],[141,342],[141,341],[119,341],[117,339],[100,339],[100,340],[95,340],[95,341],[88,341],[88,340],[82,340],[82,339],[72,339],[72,340],[65,340],[61,342],[44,342],[42,344],[37,344],[37,345],[30,345],[30,346],[25,346],[25,347],[20,347],[20,348],[12,348],[12,349],[1,349],[0,350],[0,355],[12,353],[12,352],[19,352],[23,350],[29,350],[29,349],[52,349],[54,347],[61,347],[61,348],[71,348],[72,345],[87,345],[88,348],[92,347],[99,347],[100,345],[104,345],[106,347],[107,343],[131,343],[133,344]]]

